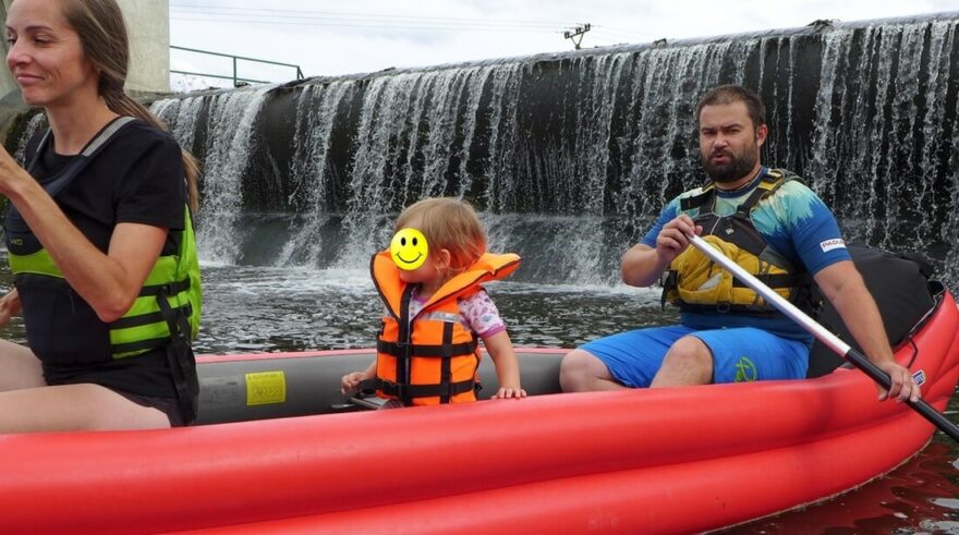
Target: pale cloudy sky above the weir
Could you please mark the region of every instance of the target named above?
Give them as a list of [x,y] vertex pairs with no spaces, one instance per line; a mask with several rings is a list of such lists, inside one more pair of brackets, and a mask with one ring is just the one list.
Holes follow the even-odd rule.
[[[170,44],[300,65],[306,76],[572,50],[562,32],[593,29],[583,48],[959,10],[945,0],[169,0]],[[174,51],[171,68],[231,74],[228,59]],[[286,81],[291,69],[239,65]]]

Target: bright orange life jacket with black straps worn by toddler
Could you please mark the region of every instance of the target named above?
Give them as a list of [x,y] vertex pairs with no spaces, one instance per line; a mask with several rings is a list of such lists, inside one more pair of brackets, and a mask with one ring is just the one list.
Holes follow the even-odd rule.
[[519,265],[518,255],[487,253],[410,317],[410,300],[418,284],[400,280],[389,251],[374,255],[373,282],[387,307],[376,341],[376,394],[406,405],[475,401],[477,336],[460,323],[458,301],[483,282],[508,277]]

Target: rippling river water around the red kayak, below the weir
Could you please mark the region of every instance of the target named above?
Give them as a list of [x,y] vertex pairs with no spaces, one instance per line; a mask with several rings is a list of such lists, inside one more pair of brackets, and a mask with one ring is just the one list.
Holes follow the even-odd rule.
[[[5,256],[3,254],[2,256]],[[0,285],[9,288],[5,257]],[[381,305],[361,269],[206,263],[198,353],[365,348]],[[624,285],[495,282],[488,290],[517,345],[573,348],[599,336],[676,319],[659,294]],[[2,336],[23,341],[14,318]],[[949,413],[959,410],[954,399]],[[895,440],[895,437],[890,437]],[[937,433],[928,448],[893,473],[823,504],[728,533],[959,533],[959,448]]]

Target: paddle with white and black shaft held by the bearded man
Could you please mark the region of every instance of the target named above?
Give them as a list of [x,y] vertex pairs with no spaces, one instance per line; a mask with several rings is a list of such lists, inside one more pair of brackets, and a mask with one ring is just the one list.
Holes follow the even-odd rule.
[[[816,337],[821,342],[826,344],[830,350],[836,352],[839,356],[846,358],[851,362],[855,367],[864,372],[867,376],[870,376],[874,381],[878,382],[886,390],[891,386],[891,380],[889,379],[888,374],[878,368],[875,364],[869,361],[862,353],[855,351],[850,348],[848,343],[843,342],[839,337],[833,335],[828,329],[817,324],[813,318],[809,317],[804,312],[800,311],[796,305],[787,301],[785,297],[773,291],[769,287],[764,284],[760,279],[753,277],[752,273],[743,269],[739,264],[730,260],[726,257],[719,250],[709,245],[708,242],[703,240],[697,235],[688,236],[690,239],[690,243],[700,250],[701,253],[708,256],[716,264],[719,264],[727,270],[729,270],[737,279],[741,280],[745,283],[745,285],[755,290],[760,295],[763,296],[768,303],[772,303],[779,312],[786,314],[793,321],[799,324],[803,329],[809,331],[812,336]],[[926,403],[924,400],[920,399],[919,401],[906,400],[906,403],[911,406],[915,412],[921,414],[924,418],[928,420],[936,427],[939,428],[946,435],[952,437],[954,440],[959,442],[959,426],[956,426],[952,422],[950,422],[946,416],[942,413],[933,409],[932,405]]]

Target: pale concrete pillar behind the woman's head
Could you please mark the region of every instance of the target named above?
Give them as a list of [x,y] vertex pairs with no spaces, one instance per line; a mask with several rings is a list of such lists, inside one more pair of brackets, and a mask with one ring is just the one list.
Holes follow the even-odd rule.
[[[0,0],[0,15],[13,0]],[[170,2],[169,0],[117,0],[126,20],[130,35],[130,72],[126,89],[131,93],[170,90]],[[3,41],[7,53],[7,41]],[[0,69],[0,96],[19,90],[10,72]],[[19,98],[19,97],[17,97]],[[9,102],[11,99],[3,98]]]

